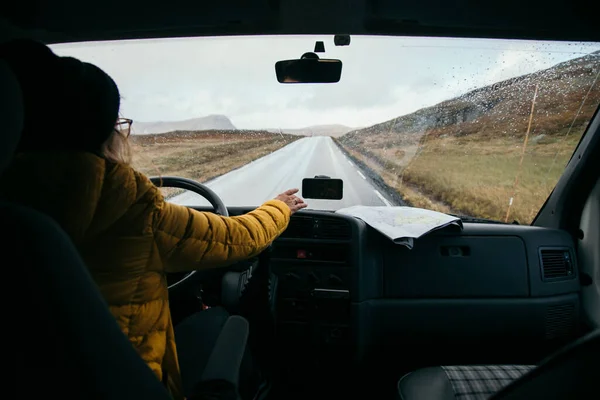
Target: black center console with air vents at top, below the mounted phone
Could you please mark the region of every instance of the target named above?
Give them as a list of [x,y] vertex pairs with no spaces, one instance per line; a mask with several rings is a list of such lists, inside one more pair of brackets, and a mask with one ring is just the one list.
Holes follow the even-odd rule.
[[277,338],[289,362],[351,357],[352,255],[351,226],[334,217],[294,216],[274,244]]

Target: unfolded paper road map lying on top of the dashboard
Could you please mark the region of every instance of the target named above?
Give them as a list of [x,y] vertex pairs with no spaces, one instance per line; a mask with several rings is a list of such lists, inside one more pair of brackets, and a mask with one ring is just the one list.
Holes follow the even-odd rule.
[[424,208],[354,206],[336,213],[359,218],[394,243],[409,249],[412,249],[414,239],[436,229],[449,225],[462,229],[460,218]]

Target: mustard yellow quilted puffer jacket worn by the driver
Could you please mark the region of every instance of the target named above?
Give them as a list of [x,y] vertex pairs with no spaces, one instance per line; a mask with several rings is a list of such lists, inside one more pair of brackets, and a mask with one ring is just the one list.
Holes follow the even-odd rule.
[[110,310],[159,379],[182,398],[166,272],[225,266],[257,255],[288,225],[271,200],[225,218],[165,202],[129,166],[90,153],[26,153],[0,195],[52,216],[70,235]]

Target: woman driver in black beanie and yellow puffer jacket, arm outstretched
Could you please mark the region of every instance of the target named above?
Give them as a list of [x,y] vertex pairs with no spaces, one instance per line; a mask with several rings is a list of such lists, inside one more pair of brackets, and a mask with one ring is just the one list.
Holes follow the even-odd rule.
[[129,165],[128,129],[118,129],[120,95],[107,74],[33,42],[3,45],[1,54],[25,106],[2,196],[62,226],[125,335],[174,398],[183,398],[165,274],[253,257],[306,204],[295,189],[232,218],[168,203]]

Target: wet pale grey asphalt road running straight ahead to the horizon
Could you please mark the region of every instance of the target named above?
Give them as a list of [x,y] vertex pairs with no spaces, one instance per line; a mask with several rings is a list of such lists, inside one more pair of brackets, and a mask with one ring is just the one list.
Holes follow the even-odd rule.
[[[227,206],[259,206],[290,188],[302,188],[303,178],[328,175],[344,181],[342,200],[305,199],[309,209],[338,210],[354,205],[391,206],[352,161],[326,136],[308,137],[207,182]],[[169,201],[199,206],[209,203],[186,192]]]

